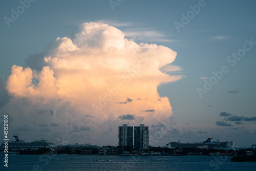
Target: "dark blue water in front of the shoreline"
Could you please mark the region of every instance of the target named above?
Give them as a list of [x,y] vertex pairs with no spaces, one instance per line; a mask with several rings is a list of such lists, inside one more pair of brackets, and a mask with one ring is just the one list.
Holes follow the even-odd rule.
[[0,170],[256,170],[256,162],[224,156],[70,156],[3,155]]

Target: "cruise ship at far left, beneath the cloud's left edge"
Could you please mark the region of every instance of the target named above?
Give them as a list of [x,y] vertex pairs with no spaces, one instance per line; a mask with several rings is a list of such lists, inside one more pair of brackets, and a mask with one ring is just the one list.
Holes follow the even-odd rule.
[[[15,141],[8,141],[8,148],[15,148],[15,149],[39,149],[42,147],[55,147],[54,143],[47,140],[35,140],[33,142],[27,142],[23,140],[19,140],[18,136],[15,137]],[[5,148],[4,142],[1,144],[2,148]]]

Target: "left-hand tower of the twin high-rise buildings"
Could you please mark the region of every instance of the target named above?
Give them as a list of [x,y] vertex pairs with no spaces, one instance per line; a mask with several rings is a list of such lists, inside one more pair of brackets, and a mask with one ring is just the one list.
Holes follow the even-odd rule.
[[118,145],[119,146],[133,146],[133,126],[123,124],[118,129]]

